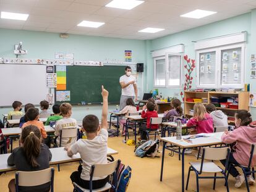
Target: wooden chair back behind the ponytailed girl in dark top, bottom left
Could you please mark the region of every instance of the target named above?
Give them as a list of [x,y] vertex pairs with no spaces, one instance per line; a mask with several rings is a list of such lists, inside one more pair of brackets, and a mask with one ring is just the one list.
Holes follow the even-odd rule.
[[19,186],[37,186],[45,183],[50,183],[51,192],[53,192],[54,169],[38,170],[35,172],[21,172],[15,173],[15,191],[19,192]]

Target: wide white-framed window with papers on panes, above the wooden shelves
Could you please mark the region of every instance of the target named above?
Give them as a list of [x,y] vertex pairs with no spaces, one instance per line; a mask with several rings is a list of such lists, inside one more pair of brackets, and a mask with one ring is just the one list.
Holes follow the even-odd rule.
[[243,88],[245,44],[197,51],[197,87]]

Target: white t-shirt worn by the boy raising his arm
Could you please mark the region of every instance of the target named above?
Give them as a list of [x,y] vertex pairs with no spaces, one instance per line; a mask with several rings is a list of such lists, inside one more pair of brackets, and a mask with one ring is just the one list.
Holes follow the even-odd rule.
[[[71,146],[73,154],[80,153],[83,161],[81,178],[90,180],[91,166],[95,164],[106,164],[108,152],[108,131],[101,128],[100,134],[93,140],[80,139]],[[108,177],[108,175],[106,175]],[[93,180],[100,180],[106,177],[93,177]]]

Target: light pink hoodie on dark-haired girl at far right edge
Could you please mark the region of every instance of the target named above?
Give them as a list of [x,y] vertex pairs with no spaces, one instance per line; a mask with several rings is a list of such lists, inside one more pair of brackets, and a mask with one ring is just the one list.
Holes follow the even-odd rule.
[[[249,126],[241,126],[228,134],[221,136],[223,143],[231,144],[236,142],[233,149],[234,159],[241,165],[248,166],[250,159],[250,146],[256,143],[256,128]],[[255,150],[255,149],[254,149]],[[256,165],[256,155],[252,158],[252,166]]]

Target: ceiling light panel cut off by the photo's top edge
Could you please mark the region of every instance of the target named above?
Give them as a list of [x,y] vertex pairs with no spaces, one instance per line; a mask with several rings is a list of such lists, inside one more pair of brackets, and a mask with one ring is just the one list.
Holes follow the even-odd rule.
[[105,7],[113,7],[117,9],[134,9],[134,7],[139,6],[144,1],[138,1],[138,0],[113,0],[106,4]]

